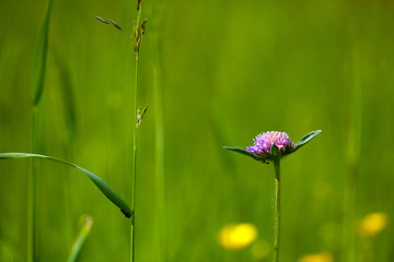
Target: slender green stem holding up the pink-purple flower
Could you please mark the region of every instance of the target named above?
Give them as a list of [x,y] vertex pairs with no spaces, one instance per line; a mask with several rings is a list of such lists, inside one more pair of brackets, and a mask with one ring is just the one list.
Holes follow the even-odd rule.
[[274,160],[275,168],[275,236],[273,261],[279,261],[279,236],[280,236],[280,159]]

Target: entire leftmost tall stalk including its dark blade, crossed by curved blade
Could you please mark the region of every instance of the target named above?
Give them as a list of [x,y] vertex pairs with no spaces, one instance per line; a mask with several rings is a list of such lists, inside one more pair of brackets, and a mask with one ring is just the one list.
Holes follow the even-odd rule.
[[[32,92],[32,126],[31,126],[31,153],[37,151],[37,110],[44,92],[46,76],[46,60],[48,55],[49,21],[53,0],[48,0],[43,25],[39,31],[34,64],[34,80]],[[34,160],[30,160],[28,168],[28,207],[27,207],[27,261],[36,260],[36,188],[37,178]]]

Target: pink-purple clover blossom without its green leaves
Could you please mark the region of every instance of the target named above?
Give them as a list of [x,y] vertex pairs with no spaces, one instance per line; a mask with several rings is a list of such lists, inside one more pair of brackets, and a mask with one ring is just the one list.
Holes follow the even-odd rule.
[[253,141],[254,144],[246,147],[246,151],[257,155],[270,154],[274,144],[278,146],[279,151],[282,153],[294,147],[294,143],[289,140],[289,135],[278,131],[263,132]]

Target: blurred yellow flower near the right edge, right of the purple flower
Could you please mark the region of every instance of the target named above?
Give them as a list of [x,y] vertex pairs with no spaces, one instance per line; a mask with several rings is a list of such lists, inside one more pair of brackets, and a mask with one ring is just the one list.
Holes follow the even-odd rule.
[[387,215],[385,213],[371,213],[366,215],[358,227],[361,237],[369,238],[376,236],[387,224]]

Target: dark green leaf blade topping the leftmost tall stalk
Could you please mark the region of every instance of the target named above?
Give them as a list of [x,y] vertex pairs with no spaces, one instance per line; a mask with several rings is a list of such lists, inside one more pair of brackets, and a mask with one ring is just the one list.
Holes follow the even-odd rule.
[[32,93],[32,104],[33,107],[37,106],[40,97],[44,92],[44,82],[46,74],[46,60],[48,55],[48,34],[49,34],[49,21],[50,21],[50,11],[51,11],[53,0],[48,0],[47,10],[45,13],[45,19],[38,35],[37,46],[34,63],[34,81],[33,81],[33,93]]

